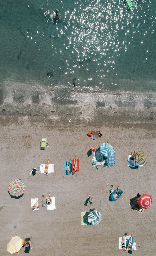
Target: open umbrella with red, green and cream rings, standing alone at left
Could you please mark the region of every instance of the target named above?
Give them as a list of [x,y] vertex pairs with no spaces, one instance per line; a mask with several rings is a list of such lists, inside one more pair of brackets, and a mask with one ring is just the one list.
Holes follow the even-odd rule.
[[8,186],[8,191],[11,196],[20,197],[24,194],[25,185],[22,180],[14,179]]

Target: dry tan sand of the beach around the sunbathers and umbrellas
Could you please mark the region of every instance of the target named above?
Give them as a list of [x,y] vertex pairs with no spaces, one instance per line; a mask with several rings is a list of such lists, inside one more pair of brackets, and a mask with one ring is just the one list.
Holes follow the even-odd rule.
[[[71,119],[71,122],[69,122]],[[107,118],[108,119],[108,118]],[[100,128],[104,135],[95,141],[87,137],[89,130]],[[133,234],[137,250],[133,255],[155,254],[155,123],[131,120],[66,121],[39,119],[28,116],[0,117],[0,255],[10,255],[7,243],[11,237],[32,236],[30,255],[37,256],[118,256],[119,236]],[[48,138],[49,147],[40,150],[41,137]],[[87,152],[103,142],[115,150],[115,166],[92,167],[92,156]],[[139,169],[130,169],[127,158],[131,149],[147,154],[148,163]],[[80,159],[77,175],[65,176],[64,160],[73,155]],[[54,173],[31,176],[32,168],[49,158]],[[26,188],[23,197],[13,199],[8,194],[8,184],[14,179],[23,180]],[[106,187],[106,184],[109,187]],[[122,197],[109,201],[110,184],[120,185]],[[150,194],[152,206],[142,214],[131,211],[129,200],[133,195]],[[42,208],[43,194],[55,197],[56,210]],[[81,226],[81,211],[90,210],[85,200],[94,197],[91,208],[102,213],[102,221],[95,226]],[[31,198],[39,198],[39,210],[32,211]],[[140,248],[138,247],[140,246]],[[24,248],[20,249],[24,255]]]

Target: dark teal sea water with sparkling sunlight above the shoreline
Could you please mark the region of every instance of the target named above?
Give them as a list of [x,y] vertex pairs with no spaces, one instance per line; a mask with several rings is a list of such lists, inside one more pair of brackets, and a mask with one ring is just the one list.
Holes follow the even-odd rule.
[[155,91],[156,1],[132,3],[1,0],[1,88]]

